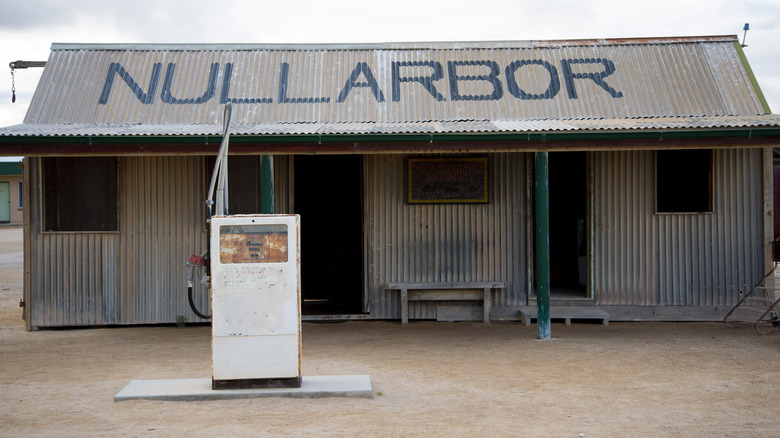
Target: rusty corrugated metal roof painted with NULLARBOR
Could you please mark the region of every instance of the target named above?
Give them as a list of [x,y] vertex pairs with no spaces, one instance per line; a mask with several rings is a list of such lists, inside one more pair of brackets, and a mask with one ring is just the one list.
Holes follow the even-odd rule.
[[3,136],[779,127],[736,36],[378,45],[55,44]]

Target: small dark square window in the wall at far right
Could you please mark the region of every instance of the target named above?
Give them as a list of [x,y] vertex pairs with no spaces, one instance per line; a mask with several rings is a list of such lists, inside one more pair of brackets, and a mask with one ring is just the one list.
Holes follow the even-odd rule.
[[712,212],[712,150],[657,151],[657,213]]

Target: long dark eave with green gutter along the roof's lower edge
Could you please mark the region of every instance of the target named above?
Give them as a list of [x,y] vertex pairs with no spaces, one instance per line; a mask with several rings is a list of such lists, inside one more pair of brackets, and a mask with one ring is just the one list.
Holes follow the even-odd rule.
[[[2,136],[0,155],[213,154],[221,136]],[[780,147],[780,127],[589,132],[231,135],[234,153]]]

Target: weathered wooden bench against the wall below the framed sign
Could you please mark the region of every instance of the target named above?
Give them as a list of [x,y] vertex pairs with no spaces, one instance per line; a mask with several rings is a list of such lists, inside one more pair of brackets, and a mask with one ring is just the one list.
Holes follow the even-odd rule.
[[409,322],[409,301],[482,301],[483,319],[490,322],[490,301],[494,289],[504,289],[500,282],[390,283],[387,290],[401,291],[401,323]]

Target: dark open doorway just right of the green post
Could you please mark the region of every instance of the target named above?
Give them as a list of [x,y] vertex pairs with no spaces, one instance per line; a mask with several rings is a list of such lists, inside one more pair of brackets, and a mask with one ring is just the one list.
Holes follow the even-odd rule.
[[587,155],[549,154],[550,295],[587,296]]

